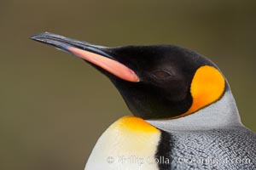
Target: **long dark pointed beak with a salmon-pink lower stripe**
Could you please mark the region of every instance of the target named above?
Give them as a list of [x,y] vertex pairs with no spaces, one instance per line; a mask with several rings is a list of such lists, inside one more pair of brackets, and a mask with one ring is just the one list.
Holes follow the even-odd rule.
[[62,37],[49,32],[39,33],[31,38],[32,40],[55,46],[55,48],[61,49],[64,52],[78,56],[90,64],[96,65],[104,71],[108,71],[115,77],[119,77],[128,82],[139,82],[137,74],[126,65],[120,63],[113,56],[104,52],[103,49],[105,47],[103,46]]

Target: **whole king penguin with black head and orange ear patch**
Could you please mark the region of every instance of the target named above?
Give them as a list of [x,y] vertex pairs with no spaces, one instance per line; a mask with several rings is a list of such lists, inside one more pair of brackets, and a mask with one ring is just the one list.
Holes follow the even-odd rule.
[[133,114],[102,133],[85,170],[256,169],[256,134],[242,125],[210,59],[174,45],[109,48],[49,32],[31,38],[101,71]]

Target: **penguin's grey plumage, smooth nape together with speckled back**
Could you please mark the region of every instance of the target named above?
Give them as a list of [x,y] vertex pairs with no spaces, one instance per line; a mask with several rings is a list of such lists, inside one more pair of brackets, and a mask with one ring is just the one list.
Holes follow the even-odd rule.
[[165,134],[156,157],[170,164],[160,169],[256,169],[256,133],[242,125],[230,88],[194,114],[148,122]]

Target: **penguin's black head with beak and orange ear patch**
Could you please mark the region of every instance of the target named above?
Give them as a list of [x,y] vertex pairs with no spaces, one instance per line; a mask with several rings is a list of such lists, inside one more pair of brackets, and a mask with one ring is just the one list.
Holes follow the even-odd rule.
[[84,59],[106,75],[133,115],[188,116],[221,99],[227,82],[200,54],[173,45],[108,48],[44,32],[32,37]]

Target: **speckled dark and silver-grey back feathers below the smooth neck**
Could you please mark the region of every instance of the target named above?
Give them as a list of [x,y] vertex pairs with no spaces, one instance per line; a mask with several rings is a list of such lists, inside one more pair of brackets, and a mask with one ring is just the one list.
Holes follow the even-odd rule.
[[246,127],[169,134],[171,169],[256,169],[256,134]]

